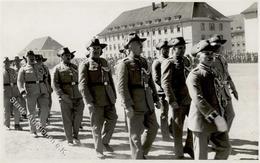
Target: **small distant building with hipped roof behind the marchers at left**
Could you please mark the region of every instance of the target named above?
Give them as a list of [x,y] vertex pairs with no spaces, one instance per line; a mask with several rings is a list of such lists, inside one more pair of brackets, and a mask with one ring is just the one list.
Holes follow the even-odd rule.
[[20,53],[20,56],[24,56],[24,54],[28,50],[33,50],[36,54],[42,54],[43,57],[48,60],[45,64],[51,68],[59,63],[60,58],[57,56],[57,51],[63,46],[58,43],[56,40],[52,39],[50,36],[41,37],[32,40]]

